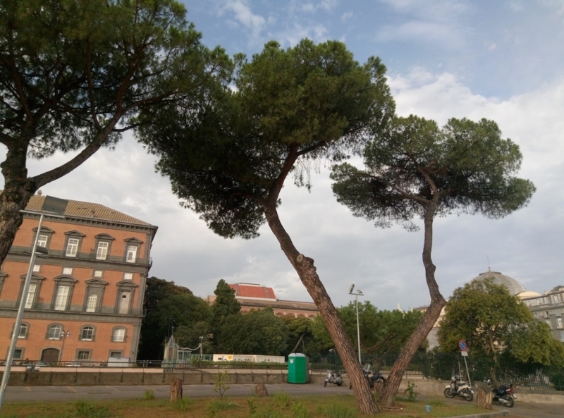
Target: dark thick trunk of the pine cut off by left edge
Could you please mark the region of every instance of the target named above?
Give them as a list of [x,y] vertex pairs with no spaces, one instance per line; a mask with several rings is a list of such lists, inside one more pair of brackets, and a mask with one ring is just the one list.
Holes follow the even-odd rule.
[[0,164],[4,176],[4,190],[0,195],[0,264],[6,259],[23,222],[20,210],[25,209],[37,191],[35,182],[27,178],[26,154],[27,144],[16,141],[8,146],[6,160]]

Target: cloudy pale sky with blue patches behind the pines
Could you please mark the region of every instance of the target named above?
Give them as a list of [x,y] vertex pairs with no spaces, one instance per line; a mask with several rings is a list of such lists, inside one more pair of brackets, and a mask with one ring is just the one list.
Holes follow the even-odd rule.
[[[305,37],[345,42],[364,63],[379,56],[397,113],[434,119],[496,121],[520,146],[519,176],[537,192],[505,219],[448,216],[434,223],[433,260],[441,293],[479,273],[500,271],[527,290],[564,285],[564,2],[416,0],[188,1],[188,20],[207,47],[251,57],[265,42],[293,47]],[[5,150],[0,149],[0,152]],[[69,155],[30,161],[31,176]],[[279,299],[311,301],[298,275],[263,226],[255,240],[214,235],[183,209],[155,158],[133,135],[103,149],[42,193],[97,202],[159,226],[149,274],[211,295],[228,283],[274,288]],[[355,161],[359,164],[359,161]],[[360,163],[362,164],[362,162]],[[329,167],[312,175],[308,192],[286,183],[279,214],[295,246],[312,257],[336,306],[354,297],[355,283],[379,309],[429,303],[422,264],[422,230],[375,228],[336,202]]]

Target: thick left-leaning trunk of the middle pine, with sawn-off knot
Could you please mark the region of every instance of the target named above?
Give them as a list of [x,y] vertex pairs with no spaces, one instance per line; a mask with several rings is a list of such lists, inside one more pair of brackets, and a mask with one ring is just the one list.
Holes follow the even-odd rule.
[[272,232],[280,243],[282,251],[294,266],[295,271],[298,272],[300,280],[305,285],[307,292],[319,309],[327,331],[329,331],[329,335],[333,343],[335,343],[335,348],[347,371],[350,383],[353,385],[360,412],[362,412],[362,414],[374,414],[378,412],[376,401],[372,396],[366,378],[364,378],[353,344],[350,342],[350,338],[348,338],[345,332],[345,328],[341,323],[337,310],[333,306],[333,302],[331,302],[331,298],[327,294],[323,283],[319,280],[314,266],[314,260],[305,257],[296,250],[290,235],[288,235],[278,218],[278,212],[274,205],[265,206],[264,214]]

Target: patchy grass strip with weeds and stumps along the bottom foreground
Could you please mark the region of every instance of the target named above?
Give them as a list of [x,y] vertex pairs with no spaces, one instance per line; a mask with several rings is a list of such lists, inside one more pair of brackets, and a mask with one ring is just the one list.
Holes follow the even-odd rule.
[[[246,404],[245,404],[246,400]],[[384,410],[378,418],[408,417],[458,417],[484,412],[470,402],[438,407],[440,397],[425,402],[406,402],[405,397],[396,399],[396,410]],[[436,405],[431,412],[424,412],[425,405]],[[92,407],[88,407],[91,405]],[[243,407],[245,405],[245,407]],[[248,407],[247,407],[248,405]],[[401,408],[401,409],[400,409]],[[289,407],[278,407],[274,396],[266,398],[183,398],[182,403],[171,404],[168,400],[142,402],[137,400],[111,400],[84,402],[84,414],[76,414],[75,402],[8,402],[1,418],[362,418],[355,397],[351,395],[306,395],[293,398]],[[106,411],[100,414],[99,411]],[[90,414],[90,415],[89,415]],[[97,415],[98,414],[98,415]]]

